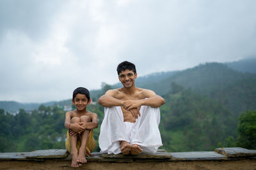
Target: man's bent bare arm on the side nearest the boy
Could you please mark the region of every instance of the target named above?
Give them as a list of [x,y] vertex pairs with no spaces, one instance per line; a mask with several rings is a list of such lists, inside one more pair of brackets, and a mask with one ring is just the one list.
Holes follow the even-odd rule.
[[110,108],[113,106],[122,106],[124,101],[116,99],[115,95],[116,95],[116,90],[108,90],[106,94],[104,94],[99,98],[98,103],[106,108]]

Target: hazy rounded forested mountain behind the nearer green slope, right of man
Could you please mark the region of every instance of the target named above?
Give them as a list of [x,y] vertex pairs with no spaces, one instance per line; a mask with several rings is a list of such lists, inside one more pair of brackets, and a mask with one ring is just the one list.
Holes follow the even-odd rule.
[[242,111],[256,109],[256,74],[234,71],[225,64],[201,64],[143,88],[164,95],[172,90],[172,82],[223,104],[236,117]]

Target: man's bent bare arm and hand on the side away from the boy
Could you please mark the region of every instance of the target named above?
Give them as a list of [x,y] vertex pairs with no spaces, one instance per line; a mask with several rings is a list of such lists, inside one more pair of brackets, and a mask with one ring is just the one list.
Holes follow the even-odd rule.
[[151,106],[153,108],[158,108],[165,103],[164,98],[156,95],[152,90],[143,90],[142,96],[146,99],[140,100],[127,100],[124,101],[124,108],[126,110],[131,110],[132,108],[138,108],[140,106]]

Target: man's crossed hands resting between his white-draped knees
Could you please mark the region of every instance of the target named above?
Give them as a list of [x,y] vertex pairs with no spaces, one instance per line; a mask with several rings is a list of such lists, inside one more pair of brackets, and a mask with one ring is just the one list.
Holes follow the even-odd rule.
[[141,106],[140,101],[127,100],[122,103],[122,107],[125,110],[130,111],[132,114],[132,117],[134,117],[134,118],[138,118],[138,116],[141,116],[140,115],[140,106]]

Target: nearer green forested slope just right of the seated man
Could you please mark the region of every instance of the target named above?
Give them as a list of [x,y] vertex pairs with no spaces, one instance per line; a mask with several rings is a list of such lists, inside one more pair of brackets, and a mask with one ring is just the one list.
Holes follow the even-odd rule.
[[160,130],[166,150],[214,150],[228,136],[237,136],[236,118],[220,103],[176,83],[163,97]]

